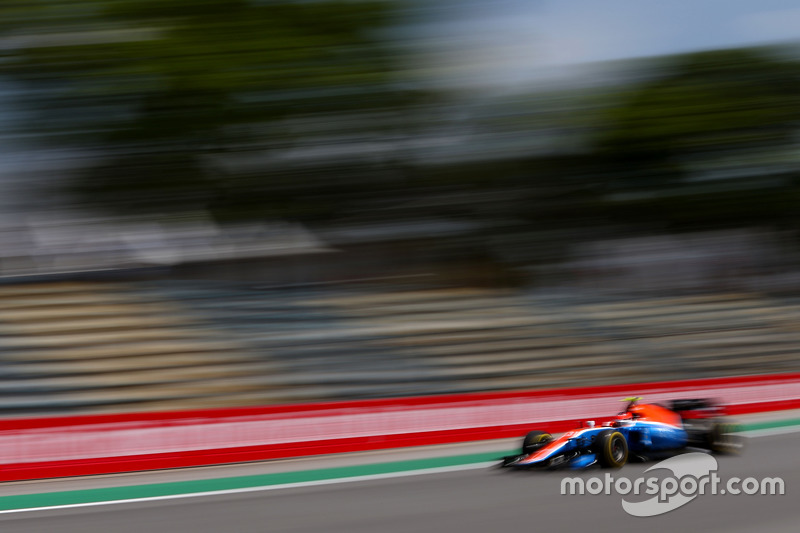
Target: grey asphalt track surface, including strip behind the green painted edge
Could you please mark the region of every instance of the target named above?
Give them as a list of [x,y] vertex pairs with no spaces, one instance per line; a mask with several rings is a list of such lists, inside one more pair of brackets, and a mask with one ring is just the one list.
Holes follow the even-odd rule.
[[[797,427],[791,433],[748,439],[740,456],[720,457],[723,479],[781,477],[784,495],[704,495],[666,514],[647,518],[628,515],[622,496],[562,495],[567,476],[588,480],[610,472],[635,479],[654,463],[629,464],[622,470],[511,472],[486,466],[427,473],[212,494],[179,499],[115,503],[80,508],[0,514],[0,531],[63,533],[126,532],[289,532],[289,533],[485,533],[520,531],[619,532],[792,532],[800,531],[800,460]],[[440,451],[447,453],[447,450]],[[457,453],[449,450],[449,453]],[[363,462],[364,458],[345,461]],[[380,454],[367,461],[384,460]],[[326,466],[321,459],[262,466],[274,471]],[[110,476],[85,480],[9,484],[2,494],[73,490],[151,483],[158,476],[186,479],[238,475],[257,465],[239,465],[182,473]],[[155,476],[155,477],[154,477]],[[627,497],[628,499],[635,499]],[[644,497],[639,498],[644,499]]]

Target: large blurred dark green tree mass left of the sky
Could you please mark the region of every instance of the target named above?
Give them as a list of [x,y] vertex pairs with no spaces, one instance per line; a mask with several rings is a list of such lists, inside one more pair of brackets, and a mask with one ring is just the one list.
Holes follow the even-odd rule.
[[89,154],[69,183],[92,206],[313,218],[380,170],[340,139],[390,135],[386,114],[413,98],[380,33],[396,13],[383,0],[6,0],[0,75],[39,138]]

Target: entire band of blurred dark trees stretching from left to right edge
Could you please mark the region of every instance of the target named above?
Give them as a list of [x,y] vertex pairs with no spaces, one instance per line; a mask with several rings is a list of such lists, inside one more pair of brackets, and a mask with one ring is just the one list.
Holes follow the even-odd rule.
[[[450,115],[466,118],[447,123],[447,111],[408,113],[419,93],[399,89],[381,33],[396,14],[379,0],[6,1],[0,75],[36,111],[31,129],[90,154],[72,191],[116,211],[402,212],[525,231],[794,223],[797,61],[773,49],[656,58],[641,63],[645,81],[572,101],[465,99]],[[474,132],[474,153],[406,158],[398,147],[427,119],[433,144]],[[542,151],[565,132],[577,149]],[[480,144],[497,138],[515,147]],[[526,138],[538,148],[520,151]],[[393,199],[426,207],[384,209]]]

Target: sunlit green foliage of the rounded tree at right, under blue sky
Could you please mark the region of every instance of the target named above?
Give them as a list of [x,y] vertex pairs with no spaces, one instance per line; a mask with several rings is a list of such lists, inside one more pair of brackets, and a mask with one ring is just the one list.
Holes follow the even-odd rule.
[[763,49],[658,61],[663,73],[623,94],[597,138],[609,189],[702,194],[797,170],[798,63]]

